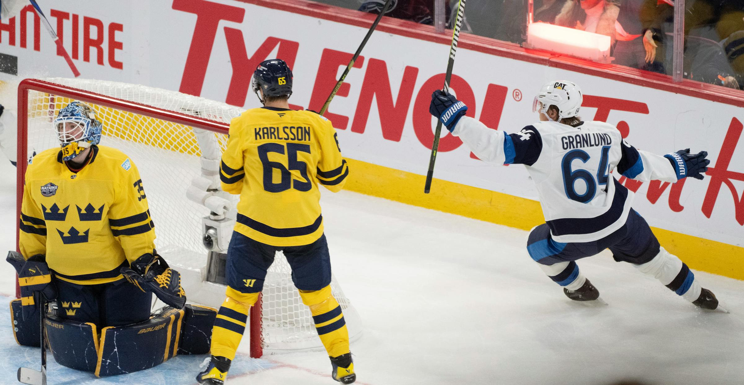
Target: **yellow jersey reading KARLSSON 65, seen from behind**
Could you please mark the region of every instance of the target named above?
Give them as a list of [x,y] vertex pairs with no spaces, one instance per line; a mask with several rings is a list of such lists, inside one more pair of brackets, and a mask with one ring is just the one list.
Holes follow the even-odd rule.
[[249,109],[230,123],[222,190],[240,194],[235,231],[266,245],[323,234],[318,183],[341,190],[349,167],[330,121],[312,111]]

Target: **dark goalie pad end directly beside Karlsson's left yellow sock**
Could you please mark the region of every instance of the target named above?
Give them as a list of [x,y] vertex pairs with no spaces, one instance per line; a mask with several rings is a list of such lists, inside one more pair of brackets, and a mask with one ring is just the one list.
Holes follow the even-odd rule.
[[212,326],[217,310],[205,306],[186,305],[181,326],[179,355],[205,355],[212,343]]

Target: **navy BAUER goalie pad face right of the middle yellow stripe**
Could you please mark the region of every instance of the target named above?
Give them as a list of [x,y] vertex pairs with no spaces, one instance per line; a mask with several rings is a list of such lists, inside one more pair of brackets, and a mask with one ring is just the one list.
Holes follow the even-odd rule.
[[184,314],[183,309],[165,306],[143,323],[103,328],[96,377],[150,369],[175,356]]

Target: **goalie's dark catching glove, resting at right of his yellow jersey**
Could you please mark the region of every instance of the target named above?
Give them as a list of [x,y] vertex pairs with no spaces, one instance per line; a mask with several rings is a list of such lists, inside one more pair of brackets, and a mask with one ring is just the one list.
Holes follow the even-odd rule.
[[186,304],[181,274],[169,268],[165,259],[158,254],[143,254],[129,268],[121,268],[121,274],[141,291],[155,293],[155,297],[166,305],[183,308]]

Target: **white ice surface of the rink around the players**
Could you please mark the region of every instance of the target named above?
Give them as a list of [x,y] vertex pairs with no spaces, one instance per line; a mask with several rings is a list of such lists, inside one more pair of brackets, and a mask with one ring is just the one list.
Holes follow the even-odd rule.
[[[14,249],[15,169],[0,161],[0,244]],[[436,189],[436,184],[434,184]],[[744,282],[696,271],[731,314],[700,311],[608,253],[579,265],[609,306],[571,302],[525,250],[527,232],[356,193],[324,193],[333,271],[365,323],[358,384],[744,383]],[[0,263],[0,383],[38,368],[10,335]],[[228,384],[336,384],[324,352],[247,356]],[[49,384],[196,384],[199,357],[94,381],[49,356]]]

